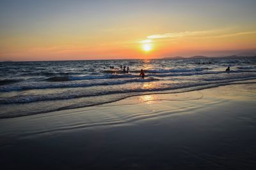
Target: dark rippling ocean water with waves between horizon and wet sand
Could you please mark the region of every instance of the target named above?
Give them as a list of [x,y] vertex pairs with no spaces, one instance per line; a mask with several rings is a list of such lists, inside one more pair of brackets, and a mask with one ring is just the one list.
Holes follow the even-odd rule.
[[0,74],[0,118],[13,118],[243,83],[256,79],[256,58],[0,62]]

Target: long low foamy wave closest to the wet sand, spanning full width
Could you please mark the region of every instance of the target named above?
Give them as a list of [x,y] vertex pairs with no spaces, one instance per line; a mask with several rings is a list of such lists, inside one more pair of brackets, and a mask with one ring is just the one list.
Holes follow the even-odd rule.
[[[132,92],[154,92],[154,91],[163,91],[163,90],[175,90],[175,89],[183,89],[183,88],[191,88],[202,85],[211,85],[218,83],[230,83],[232,81],[242,81],[242,80],[253,80],[256,79],[256,76],[252,76],[250,78],[233,78],[221,82],[191,82],[191,83],[175,83],[175,84],[166,84],[162,87],[154,87],[152,89],[109,89],[104,91],[95,91],[88,92],[86,90],[81,90],[77,92],[64,92],[60,94],[43,94],[43,95],[33,95],[33,96],[18,96],[18,97],[8,97],[5,99],[0,99],[0,104],[15,104],[15,103],[32,103],[37,101],[55,101],[55,100],[65,100],[65,99],[74,99],[80,97],[92,97],[92,96],[104,96],[108,94],[129,94]],[[143,81],[143,80],[141,80]]]

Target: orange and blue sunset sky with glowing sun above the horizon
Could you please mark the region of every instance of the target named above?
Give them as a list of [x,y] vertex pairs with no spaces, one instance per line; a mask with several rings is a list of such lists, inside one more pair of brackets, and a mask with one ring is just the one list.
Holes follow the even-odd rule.
[[1,0],[0,60],[256,52],[255,0]]

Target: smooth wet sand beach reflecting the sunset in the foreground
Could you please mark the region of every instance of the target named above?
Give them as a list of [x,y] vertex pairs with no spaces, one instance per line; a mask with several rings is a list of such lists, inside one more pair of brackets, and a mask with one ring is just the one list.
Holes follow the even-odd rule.
[[255,169],[255,81],[0,120],[3,169]]

